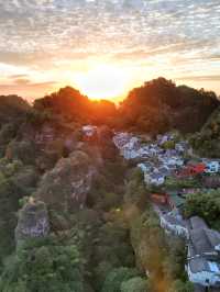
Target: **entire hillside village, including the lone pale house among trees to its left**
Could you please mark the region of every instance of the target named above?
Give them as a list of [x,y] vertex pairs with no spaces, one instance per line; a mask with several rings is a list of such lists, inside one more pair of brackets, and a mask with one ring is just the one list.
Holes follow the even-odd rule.
[[[90,125],[82,128],[88,137],[96,131]],[[196,156],[176,133],[157,135],[154,141],[146,135],[114,133],[113,143],[125,160],[141,169],[161,227],[185,240],[185,269],[195,291],[219,291],[220,233],[199,216],[185,218],[182,211],[187,195],[220,187],[220,160]]]

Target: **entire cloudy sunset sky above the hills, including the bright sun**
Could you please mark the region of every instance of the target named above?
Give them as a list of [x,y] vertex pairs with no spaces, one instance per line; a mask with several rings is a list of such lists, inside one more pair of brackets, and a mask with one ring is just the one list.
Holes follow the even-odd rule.
[[220,94],[219,0],[0,0],[0,94],[116,98],[158,76]]

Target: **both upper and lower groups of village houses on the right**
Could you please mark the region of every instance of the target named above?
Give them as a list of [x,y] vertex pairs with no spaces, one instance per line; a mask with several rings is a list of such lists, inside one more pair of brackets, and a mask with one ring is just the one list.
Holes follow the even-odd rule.
[[[175,143],[174,148],[163,145],[173,141],[172,134],[157,136],[152,143],[143,143],[129,133],[118,133],[113,137],[116,146],[125,159],[136,161],[150,186],[163,186],[166,178],[177,179],[196,175],[220,172],[220,161],[210,159],[186,160],[193,151],[186,142]],[[166,233],[179,236],[187,245],[186,271],[189,280],[202,287],[220,287],[220,233],[210,229],[198,216],[184,220],[182,206],[188,193],[200,189],[182,189],[173,192],[152,193],[151,199],[158,214],[161,226]]]

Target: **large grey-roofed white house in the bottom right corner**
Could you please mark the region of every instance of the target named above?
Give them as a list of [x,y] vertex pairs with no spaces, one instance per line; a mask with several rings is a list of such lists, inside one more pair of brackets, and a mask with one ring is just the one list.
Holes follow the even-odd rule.
[[188,278],[204,287],[220,287],[220,233],[197,216],[188,223]]

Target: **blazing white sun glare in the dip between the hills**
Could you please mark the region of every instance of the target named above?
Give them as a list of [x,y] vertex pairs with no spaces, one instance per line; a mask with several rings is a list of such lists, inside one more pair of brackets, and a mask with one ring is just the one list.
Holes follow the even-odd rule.
[[99,65],[74,77],[79,90],[92,100],[117,101],[121,99],[130,88],[130,80],[124,68],[113,65]]

